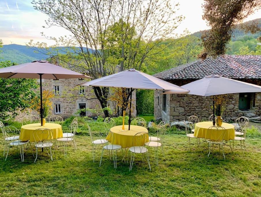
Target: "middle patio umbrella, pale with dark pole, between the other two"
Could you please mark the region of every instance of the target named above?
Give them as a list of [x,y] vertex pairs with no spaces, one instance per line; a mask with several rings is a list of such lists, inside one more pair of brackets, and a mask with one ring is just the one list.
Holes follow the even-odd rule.
[[[177,94],[186,94],[189,91],[172,83],[166,82],[159,78],[145,74],[134,68],[108,75],[102,78],[91,80],[86,83],[79,84],[81,86],[99,86],[99,87],[116,87],[129,88],[130,100],[132,100],[132,89],[151,89],[151,90],[172,90]],[[130,109],[131,109],[130,102]],[[129,130],[131,122],[131,110],[129,110]]]

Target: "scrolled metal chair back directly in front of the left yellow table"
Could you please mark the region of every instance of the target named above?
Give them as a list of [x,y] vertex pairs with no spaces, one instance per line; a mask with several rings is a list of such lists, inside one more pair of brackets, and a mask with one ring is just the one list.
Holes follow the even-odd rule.
[[39,147],[49,147],[52,143],[53,132],[50,129],[36,129],[33,131],[33,139],[35,143],[39,143]]

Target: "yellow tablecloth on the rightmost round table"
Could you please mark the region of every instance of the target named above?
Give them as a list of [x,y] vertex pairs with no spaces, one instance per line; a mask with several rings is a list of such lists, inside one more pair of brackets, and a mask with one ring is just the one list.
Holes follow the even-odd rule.
[[[214,130],[209,130],[209,127],[213,126],[213,122],[199,122],[195,124],[195,132],[194,136],[198,138],[206,138],[206,139],[211,139],[211,140],[217,140],[217,138],[220,136],[220,133],[218,135],[218,131]],[[228,124],[228,123],[222,123],[222,127],[226,129],[224,140],[231,140],[235,138],[235,129],[234,125]]]

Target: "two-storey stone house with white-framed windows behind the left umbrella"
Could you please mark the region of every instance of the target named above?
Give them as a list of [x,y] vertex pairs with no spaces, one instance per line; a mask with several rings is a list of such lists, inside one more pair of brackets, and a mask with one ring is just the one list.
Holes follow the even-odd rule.
[[[57,61],[53,60],[51,63],[59,66]],[[63,63],[63,67],[90,76],[85,67],[82,66],[83,64],[84,62],[82,60],[74,60],[71,63]],[[43,79],[43,90],[53,91],[55,94],[54,98],[52,98],[52,113],[49,114],[49,117],[51,115],[59,115],[63,118],[72,115],[89,117],[95,117],[98,115],[104,116],[101,104],[95,96],[93,88],[77,86],[86,81],[87,79],[82,78],[59,80]],[[38,80],[38,82],[40,82],[40,80]],[[110,101],[108,101],[108,107],[113,111],[115,109],[115,105]],[[78,113],[78,109],[82,108],[89,108],[91,110]],[[30,113],[37,114],[37,112]],[[126,114],[128,114],[128,110]],[[21,114],[18,118],[24,115],[25,113]],[[112,116],[114,116],[114,113]],[[136,91],[132,93],[132,117],[136,117]]]

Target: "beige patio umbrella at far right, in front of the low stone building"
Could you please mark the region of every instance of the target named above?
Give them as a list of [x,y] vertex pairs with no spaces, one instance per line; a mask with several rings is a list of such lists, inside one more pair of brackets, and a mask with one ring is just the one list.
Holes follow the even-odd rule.
[[[187,94],[200,96],[213,96],[220,94],[244,93],[244,92],[261,92],[261,86],[246,83],[219,75],[206,76],[200,80],[181,86],[190,90]],[[163,94],[173,94],[175,92],[167,91]],[[213,125],[215,125],[215,109],[213,100]]]

